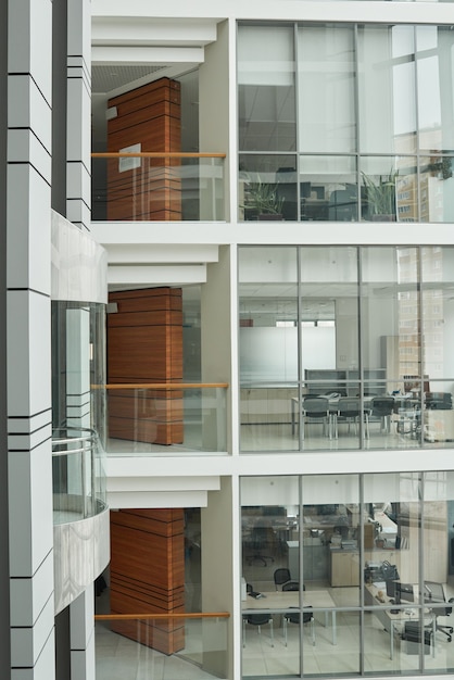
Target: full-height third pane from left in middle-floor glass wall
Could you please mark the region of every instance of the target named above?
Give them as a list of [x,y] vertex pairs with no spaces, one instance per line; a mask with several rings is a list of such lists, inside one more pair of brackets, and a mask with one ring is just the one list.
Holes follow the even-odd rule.
[[364,391],[371,396],[369,448],[420,442],[419,251],[362,250]]

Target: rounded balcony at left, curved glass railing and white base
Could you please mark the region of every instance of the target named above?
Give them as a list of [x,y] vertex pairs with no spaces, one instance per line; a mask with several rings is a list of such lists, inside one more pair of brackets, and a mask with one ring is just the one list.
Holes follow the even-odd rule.
[[73,602],[110,559],[104,452],[84,428],[52,433],[55,614]]

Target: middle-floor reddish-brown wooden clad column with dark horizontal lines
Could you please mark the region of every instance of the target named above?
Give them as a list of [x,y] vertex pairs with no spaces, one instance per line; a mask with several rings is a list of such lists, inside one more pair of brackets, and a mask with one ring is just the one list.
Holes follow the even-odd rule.
[[[180,288],[113,292],[108,315],[109,383],[182,379]],[[159,444],[182,442],[181,390],[109,390],[109,436]]]

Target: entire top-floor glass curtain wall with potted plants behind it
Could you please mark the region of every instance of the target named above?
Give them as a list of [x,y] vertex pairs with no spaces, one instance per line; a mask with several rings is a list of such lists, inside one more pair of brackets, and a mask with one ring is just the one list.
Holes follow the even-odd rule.
[[452,222],[453,46],[450,26],[239,25],[239,218]]

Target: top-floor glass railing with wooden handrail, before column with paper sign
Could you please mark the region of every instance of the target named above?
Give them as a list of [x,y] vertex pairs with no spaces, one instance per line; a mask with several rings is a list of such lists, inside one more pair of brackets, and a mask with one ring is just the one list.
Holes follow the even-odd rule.
[[92,153],[93,221],[225,221],[225,153]]

